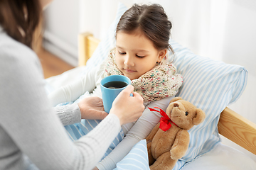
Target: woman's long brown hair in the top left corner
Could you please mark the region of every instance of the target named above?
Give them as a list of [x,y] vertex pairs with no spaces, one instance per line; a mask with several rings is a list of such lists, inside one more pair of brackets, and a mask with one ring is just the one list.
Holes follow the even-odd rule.
[[38,0],[0,0],[0,25],[9,36],[31,49],[41,15]]

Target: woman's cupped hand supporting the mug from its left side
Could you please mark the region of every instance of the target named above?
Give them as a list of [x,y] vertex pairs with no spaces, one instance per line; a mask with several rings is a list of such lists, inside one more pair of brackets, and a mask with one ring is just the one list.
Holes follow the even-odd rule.
[[104,111],[102,99],[96,96],[87,97],[78,103],[82,119],[104,119],[108,114]]

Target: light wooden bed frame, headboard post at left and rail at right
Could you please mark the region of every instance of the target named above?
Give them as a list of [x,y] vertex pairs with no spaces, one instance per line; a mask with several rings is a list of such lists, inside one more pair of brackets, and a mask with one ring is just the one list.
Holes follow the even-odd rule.
[[[100,40],[90,33],[79,35],[79,66],[84,66],[92,56]],[[256,124],[243,118],[230,108],[225,108],[220,114],[218,123],[220,135],[227,137],[241,147],[256,155]]]

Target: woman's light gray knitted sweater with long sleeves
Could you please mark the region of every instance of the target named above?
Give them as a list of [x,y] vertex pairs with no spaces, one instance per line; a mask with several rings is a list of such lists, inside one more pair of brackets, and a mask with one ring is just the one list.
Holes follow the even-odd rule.
[[[36,54],[0,26],[0,169],[92,169],[120,130],[116,115],[72,142],[78,105],[51,108]],[[57,114],[56,114],[57,113]],[[28,159],[26,159],[28,157]]]

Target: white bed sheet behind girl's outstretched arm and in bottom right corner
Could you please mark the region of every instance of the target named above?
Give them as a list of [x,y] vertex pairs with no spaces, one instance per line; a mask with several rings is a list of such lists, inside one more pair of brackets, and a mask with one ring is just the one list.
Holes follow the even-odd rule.
[[[46,79],[46,89],[48,92],[58,89],[60,86],[69,84],[75,79],[82,76],[85,67],[76,67],[63,74]],[[254,162],[246,154],[229,147],[227,145],[218,144],[207,154],[195,159],[193,162],[183,166],[182,170],[205,170],[205,169],[218,169],[218,170],[255,170],[256,162]]]

